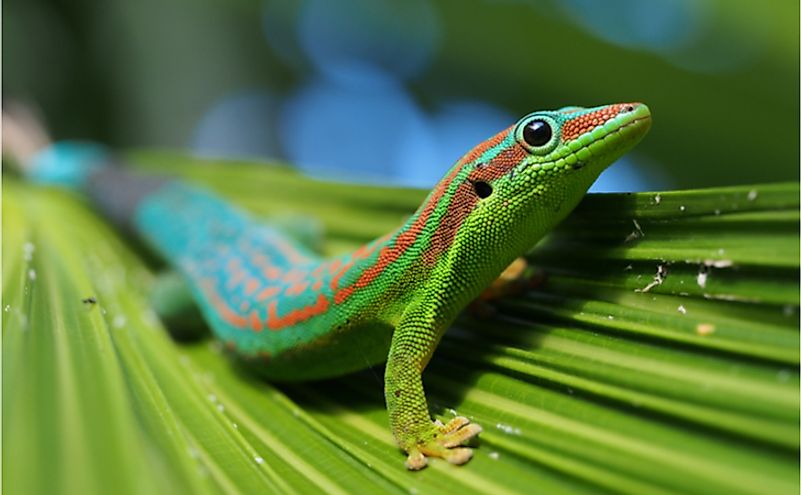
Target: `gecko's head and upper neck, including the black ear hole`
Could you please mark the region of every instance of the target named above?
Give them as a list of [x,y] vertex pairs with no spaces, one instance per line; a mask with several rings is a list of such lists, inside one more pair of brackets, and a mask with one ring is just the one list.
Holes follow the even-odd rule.
[[440,182],[447,207],[439,222],[445,234],[439,235],[458,251],[522,254],[650,124],[641,103],[526,115],[468,152]]

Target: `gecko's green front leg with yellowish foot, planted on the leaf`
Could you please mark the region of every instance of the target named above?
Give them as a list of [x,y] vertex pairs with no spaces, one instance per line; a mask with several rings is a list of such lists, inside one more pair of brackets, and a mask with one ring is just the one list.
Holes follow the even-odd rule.
[[464,464],[473,456],[465,442],[481,427],[458,416],[447,424],[432,421],[428,412],[422,373],[439,342],[440,331],[426,319],[406,316],[395,329],[384,378],[384,396],[392,434],[407,454],[406,467],[426,467],[427,457]]

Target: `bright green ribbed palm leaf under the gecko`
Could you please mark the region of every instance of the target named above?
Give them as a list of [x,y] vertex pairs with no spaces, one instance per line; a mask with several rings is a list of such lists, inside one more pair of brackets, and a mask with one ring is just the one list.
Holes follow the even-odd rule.
[[[319,218],[331,253],[424,194],[135,158],[258,215]],[[393,445],[380,369],[277,386],[213,341],[176,343],[143,250],[68,193],[3,191],[7,493],[799,490],[797,184],[587,197],[530,254],[543,284],[443,340],[432,412],[485,431],[469,465],[420,473]]]

